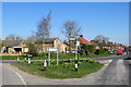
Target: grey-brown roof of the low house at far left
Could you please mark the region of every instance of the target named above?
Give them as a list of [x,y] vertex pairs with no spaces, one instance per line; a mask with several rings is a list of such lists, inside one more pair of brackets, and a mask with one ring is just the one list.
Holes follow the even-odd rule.
[[20,46],[23,40],[2,40],[5,44],[5,47]]

